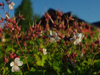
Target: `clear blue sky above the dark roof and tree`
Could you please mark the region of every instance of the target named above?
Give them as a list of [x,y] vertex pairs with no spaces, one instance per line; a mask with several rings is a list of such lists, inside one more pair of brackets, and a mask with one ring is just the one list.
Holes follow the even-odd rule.
[[[3,1],[3,0],[0,0]],[[14,8],[20,5],[22,0],[11,0],[15,2]],[[72,14],[77,15],[79,18],[92,23],[100,21],[100,0],[31,0],[34,8],[34,12],[41,16],[49,8],[54,8],[62,12],[71,11]],[[10,15],[13,11],[10,12]],[[0,11],[0,15],[3,12]]]

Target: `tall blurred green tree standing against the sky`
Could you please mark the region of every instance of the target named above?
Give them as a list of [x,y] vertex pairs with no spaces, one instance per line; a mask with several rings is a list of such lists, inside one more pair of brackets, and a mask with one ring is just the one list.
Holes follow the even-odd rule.
[[22,0],[22,3],[18,8],[15,10],[15,15],[18,16],[19,14],[23,15],[25,20],[21,20],[19,25],[21,25],[22,30],[28,30],[29,24],[33,22],[33,10],[32,10],[32,3],[30,0]]

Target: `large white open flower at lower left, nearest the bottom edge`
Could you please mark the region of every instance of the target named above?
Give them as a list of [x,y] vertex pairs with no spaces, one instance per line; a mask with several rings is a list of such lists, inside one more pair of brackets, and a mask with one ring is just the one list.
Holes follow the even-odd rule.
[[18,66],[22,66],[23,62],[20,61],[20,58],[15,58],[14,61],[10,63],[10,66],[12,67],[12,72],[18,72],[20,68]]

